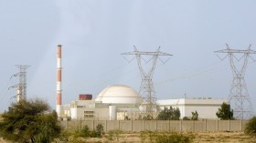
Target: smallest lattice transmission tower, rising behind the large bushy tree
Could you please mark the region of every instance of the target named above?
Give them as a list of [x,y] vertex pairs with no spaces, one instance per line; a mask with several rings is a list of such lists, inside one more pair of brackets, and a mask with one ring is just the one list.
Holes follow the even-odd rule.
[[15,88],[17,90],[17,102],[19,102],[20,99],[27,99],[27,68],[29,66],[25,65],[16,65],[17,68],[19,68],[19,72],[13,75],[12,77],[18,77],[18,84],[9,87],[9,88]]

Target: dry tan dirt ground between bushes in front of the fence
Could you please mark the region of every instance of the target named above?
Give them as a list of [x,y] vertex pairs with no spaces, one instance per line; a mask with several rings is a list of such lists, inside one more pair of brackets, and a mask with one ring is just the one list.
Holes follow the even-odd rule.
[[[194,143],[256,143],[256,138],[251,138],[243,132],[197,132]],[[142,141],[140,133],[125,133],[114,135],[112,139],[105,135],[103,138],[77,138],[72,142],[86,142],[86,143],[150,143],[147,138]],[[4,138],[0,138],[0,143],[11,143]]]

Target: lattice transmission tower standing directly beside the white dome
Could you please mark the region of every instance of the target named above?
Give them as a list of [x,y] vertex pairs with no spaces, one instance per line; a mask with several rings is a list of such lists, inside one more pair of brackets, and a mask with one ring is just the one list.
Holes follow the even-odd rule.
[[[136,46],[133,46],[133,47],[134,47],[133,52],[122,53],[121,55],[130,55],[130,56],[132,55],[132,56],[136,57],[137,64],[139,66],[140,74],[142,77],[139,94],[140,94],[140,96],[142,96],[144,98],[144,103],[146,104],[146,112],[152,112],[153,106],[155,105],[155,101],[156,101],[155,88],[154,88],[152,78],[154,75],[157,59],[159,59],[161,62],[163,62],[165,64],[165,62],[169,58],[167,58],[164,61],[161,58],[159,58],[159,56],[172,56],[172,55],[160,52],[160,46],[157,48],[157,50],[155,52],[138,51]],[[143,56],[150,56],[150,58],[147,58],[149,60],[145,60],[143,58]],[[152,65],[149,67],[148,71],[146,71],[146,69],[144,69],[144,66],[142,65],[142,60],[144,60],[144,62],[147,64],[152,61]],[[129,62],[131,62],[131,61],[129,61]]]

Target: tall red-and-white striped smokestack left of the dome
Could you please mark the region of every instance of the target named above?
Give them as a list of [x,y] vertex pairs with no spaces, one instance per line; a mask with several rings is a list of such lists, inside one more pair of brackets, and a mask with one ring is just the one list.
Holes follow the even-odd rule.
[[62,96],[62,89],[61,89],[61,45],[57,47],[57,92],[56,92],[56,112],[58,117],[61,117],[61,96]]

